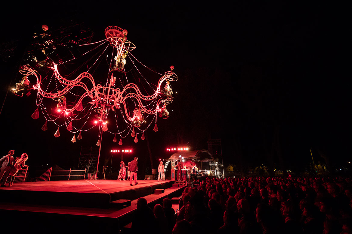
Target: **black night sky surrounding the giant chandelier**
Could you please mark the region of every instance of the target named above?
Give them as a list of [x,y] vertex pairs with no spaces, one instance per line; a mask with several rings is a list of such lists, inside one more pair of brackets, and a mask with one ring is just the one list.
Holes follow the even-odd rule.
[[[2,156],[15,149],[15,156],[29,155],[30,166],[69,169],[77,167],[81,146],[98,140],[91,131],[72,143],[65,129],[55,138],[54,125],[43,132],[45,120],[31,118],[35,94],[6,96],[10,82],[20,82],[18,61],[33,33],[43,24],[57,29],[77,22],[92,29],[92,42],[104,39],[108,26],[127,29],[140,61],[160,73],[175,67],[178,81],[172,88],[178,95],[168,108],[173,112],[158,120],[158,132],[146,132],[154,168],[157,159],[170,156],[168,144],[207,149],[207,139],[221,139],[225,167],[235,164],[239,171],[268,165],[270,158],[278,168],[302,171],[312,161],[310,148],[316,162],[326,155],[333,165],[344,165],[351,159],[351,82],[341,72],[346,62],[339,61],[344,18],[323,3],[115,1],[10,7],[1,15],[0,42],[20,41],[14,57],[1,59]],[[104,159],[118,147],[112,139],[103,135],[100,165],[109,163]],[[139,165],[150,169],[146,141],[134,143],[130,137],[123,146],[132,146]]]

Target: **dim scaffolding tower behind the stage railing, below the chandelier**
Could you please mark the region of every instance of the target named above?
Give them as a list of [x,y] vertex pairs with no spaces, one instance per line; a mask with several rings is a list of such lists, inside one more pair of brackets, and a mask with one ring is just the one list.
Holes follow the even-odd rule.
[[98,147],[81,147],[80,160],[78,162],[78,170],[87,168],[87,176],[89,173],[95,174],[98,165]]

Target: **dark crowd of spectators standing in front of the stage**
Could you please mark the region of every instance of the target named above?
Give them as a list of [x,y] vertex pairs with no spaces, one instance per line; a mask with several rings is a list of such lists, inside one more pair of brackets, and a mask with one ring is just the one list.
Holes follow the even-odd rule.
[[[167,198],[153,211],[139,198],[134,233],[352,234],[351,178],[241,177],[197,182],[184,189],[176,215]],[[140,201],[144,211],[138,209]]]

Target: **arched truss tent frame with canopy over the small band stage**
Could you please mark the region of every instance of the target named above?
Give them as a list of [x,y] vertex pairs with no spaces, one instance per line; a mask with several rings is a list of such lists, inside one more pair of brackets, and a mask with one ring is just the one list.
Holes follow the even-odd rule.
[[[190,159],[190,165],[193,165],[196,161],[197,162],[213,162],[213,165],[215,165],[215,170],[216,170],[216,176],[218,178],[220,178],[220,171],[219,171],[219,167],[218,164],[216,163],[218,161],[218,159],[214,159],[213,155],[207,151],[206,149],[201,149],[198,151],[184,151],[184,152],[176,152],[174,154],[172,154],[170,156],[169,159],[167,159],[167,161],[165,162],[165,167],[164,167],[164,173],[163,176],[165,178],[165,173],[166,173],[166,169],[168,168],[169,163],[171,162],[171,168],[175,167],[175,161],[177,161],[178,159],[180,159],[179,155],[182,155],[182,157],[184,159]],[[208,156],[210,156],[210,159],[201,159],[201,155],[202,154],[206,154]],[[191,174],[192,174],[192,170],[188,170],[188,176],[189,176],[189,183],[191,182]]]

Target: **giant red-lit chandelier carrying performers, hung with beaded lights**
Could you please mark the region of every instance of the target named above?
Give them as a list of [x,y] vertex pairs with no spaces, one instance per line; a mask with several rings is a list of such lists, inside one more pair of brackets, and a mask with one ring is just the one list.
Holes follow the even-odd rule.
[[[98,146],[101,144],[102,131],[115,134],[114,142],[119,136],[119,144],[122,145],[122,138],[127,136],[134,137],[134,142],[138,141],[138,135],[144,140],[147,128],[153,126],[154,131],[158,130],[157,118],[168,118],[166,106],[173,98],[170,82],[177,81],[177,75],[172,72],[174,67],[161,74],[139,62],[131,53],[136,46],[127,40],[127,30],[117,26],[107,27],[105,40],[78,43],[75,46],[85,47],[86,51],[83,53],[80,50],[78,56],[77,53],[71,53],[73,58],[66,61],[62,61],[59,56],[50,56],[49,52],[55,54],[52,51],[69,45],[55,45],[50,38],[45,39],[46,35],[42,36],[44,43],[41,51],[48,55],[47,58],[39,61],[33,54],[36,66],[27,63],[21,67],[20,73],[24,77],[13,91],[16,95],[29,95],[27,92],[31,89],[37,91],[38,108],[32,118],[44,116],[44,131],[48,129],[47,122],[53,122],[57,125],[56,137],[60,135],[60,129],[66,128],[74,134],[71,141],[75,142],[76,139],[82,139],[82,132],[98,128]],[[104,71],[100,72],[99,65],[104,63],[104,58],[108,69],[105,69],[106,82],[102,83],[92,74],[101,78]],[[78,61],[83,62],[80,64]],[[77,69],[71,68],[77,65]],[[142,66],[138,68],[137,65]],[[157,73],[158,81],[155,84],[147,81],[142,74],[143,69],[152,74]]]

